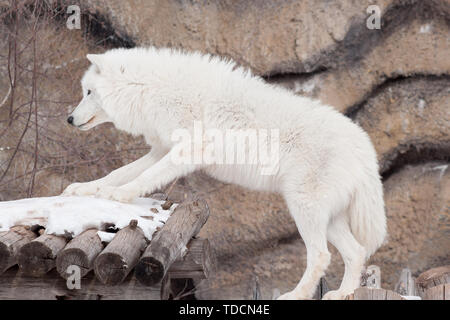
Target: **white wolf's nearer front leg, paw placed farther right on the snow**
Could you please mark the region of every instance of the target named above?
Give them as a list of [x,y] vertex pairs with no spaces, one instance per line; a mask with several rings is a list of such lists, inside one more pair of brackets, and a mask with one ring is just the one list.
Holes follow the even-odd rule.
[[135,198],[152,193],[175,178],[185,176],[201,167],[198,164],[177,163],[174,161],[176,159],[175,153],[179,151],[179,147],[173,148],[161,160],[145,170],[133,181],[119,187],[102,188],[97,193],[97,196],[120,202],[131,202]]

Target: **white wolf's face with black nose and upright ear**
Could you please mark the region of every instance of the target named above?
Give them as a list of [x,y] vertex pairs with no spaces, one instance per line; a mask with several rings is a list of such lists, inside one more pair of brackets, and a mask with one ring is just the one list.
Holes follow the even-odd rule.
[[88,60],[92,63],[81,80],[83,99],[67,118],[67,122],[81,129],[89,130],[104,122],[112,122],[105,111],[105,106],[100,97],[99,86],[102,85],[100,75],[102,58],[100,55],[88,54]]

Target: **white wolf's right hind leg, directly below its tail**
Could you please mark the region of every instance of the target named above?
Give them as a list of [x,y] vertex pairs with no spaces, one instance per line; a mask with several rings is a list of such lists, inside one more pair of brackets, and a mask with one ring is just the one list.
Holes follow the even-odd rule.
[[359,287],[366,250],[355,239],[345,216],[342,214],[330,222],[327,235],[328,240],[336,247],[344,260],[345,272],[339,289],[327,292],[323,299],[345,299],[347,295]]

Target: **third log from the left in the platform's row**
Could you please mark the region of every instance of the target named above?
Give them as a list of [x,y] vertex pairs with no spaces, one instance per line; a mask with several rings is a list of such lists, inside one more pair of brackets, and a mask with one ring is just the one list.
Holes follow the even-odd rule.
[[81,277],[84,277],[94,268],[94,260],[102,250],[103,244],[97,230],[86,230],[73,238],[58,254],[56,269],[64,279],[67,279],[70,276],[67,268],[75,265],[80,268]]

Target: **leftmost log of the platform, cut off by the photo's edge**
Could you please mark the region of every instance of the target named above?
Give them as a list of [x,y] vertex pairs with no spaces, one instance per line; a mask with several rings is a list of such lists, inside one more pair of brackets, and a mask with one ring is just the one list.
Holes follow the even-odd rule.
[[27,226],[15,226],[0,233],[0,274],[17,264],[20,248],[36,238]]

